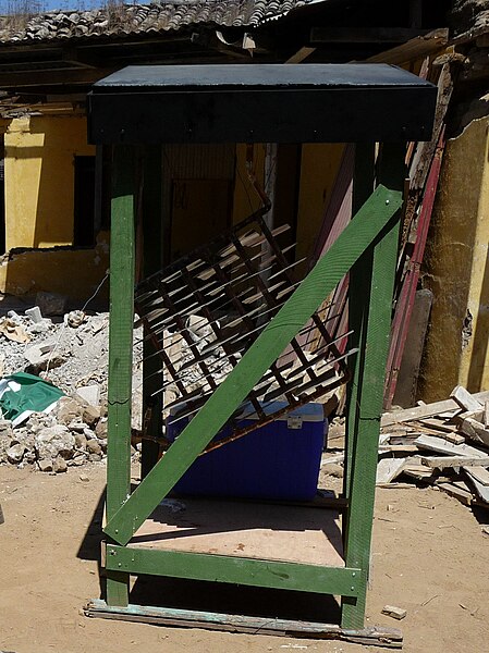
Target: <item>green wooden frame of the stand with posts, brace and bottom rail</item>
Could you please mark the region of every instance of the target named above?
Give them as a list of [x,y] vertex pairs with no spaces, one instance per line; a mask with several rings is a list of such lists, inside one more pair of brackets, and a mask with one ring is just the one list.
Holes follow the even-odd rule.
[[[392,151],[391,151],[392,150]],[[390,161],[402,160],[387,148]],[[386,175],[375,190],[372,148],[358,152],[356,214],[276,318],[243,356],[228,379],[194,417],[163,458],[130,492],[131,343],[134,281],[134,153],[118,146],[111,235],[111,321],[109,352],[109,460],[105,533],[107,604],[129,605],[130,575],[232,582],[264,588],[319,592],[342,597],[343,628],[364,626],[374,510],[377,443],[395,273],[403,174]],[[394,175],[395,176],[395,175]],[[379,178],[383,181],[382,174]],[[369,193],[370,190],[371,194]],[[147,232],[146,232],[147,233]],[[290,340],[307,322],[334,285],[351,272],[358,282],[352,296],[357,344],[347,429],[344,494],[345,567],[279,563],[235,556],[154,551],[127,546],[174,483],[225,423]]]

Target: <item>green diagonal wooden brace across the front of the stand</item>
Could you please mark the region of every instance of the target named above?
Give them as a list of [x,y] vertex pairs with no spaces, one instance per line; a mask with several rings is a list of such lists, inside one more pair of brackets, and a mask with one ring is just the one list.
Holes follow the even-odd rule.
[[376,188],[163,458],[109,520],[103,530],[112,540],[122,545],[131,540],[401,206],[401,193],[384,186]]

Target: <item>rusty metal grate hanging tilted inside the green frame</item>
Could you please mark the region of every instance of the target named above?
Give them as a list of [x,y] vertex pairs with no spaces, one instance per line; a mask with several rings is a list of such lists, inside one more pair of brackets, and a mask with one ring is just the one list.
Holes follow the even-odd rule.
[[[282,248],[288,225],[270,230],[265,209],[206,246],[144,280],[136,310],[161,358],[164,408],[190,418],[239,364],[243,354],[297,287],[296,267]],[[325,307],[321,307],[322,310]],[[323,320],[315,313],[234,414],[222,446],[347,381],[340,354]],[[305,346],[303,343],[307,341]],[[307,347],[307,348],[306,348]],[[237,421],[253,418],[245,428]]]

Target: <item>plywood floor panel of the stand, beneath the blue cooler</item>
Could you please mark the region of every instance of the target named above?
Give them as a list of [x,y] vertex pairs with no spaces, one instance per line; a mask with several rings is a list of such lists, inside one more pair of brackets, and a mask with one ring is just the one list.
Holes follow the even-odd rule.
[[337,510],[166,500],[129,546],[344,567]]

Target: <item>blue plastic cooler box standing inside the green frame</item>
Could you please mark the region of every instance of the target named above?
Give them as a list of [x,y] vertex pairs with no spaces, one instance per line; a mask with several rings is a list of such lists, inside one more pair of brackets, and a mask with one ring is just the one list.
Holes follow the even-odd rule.
[[[276,412],[286,404],[264,407]],[[246,408],[244,415],[252,411]],[[174,418],[173,418],[174,419]],[[250,423],[252,417],[239,421]],[[256,419],[256,416],[255,416]],[[167,420],[173,441],[188,422]],[[310,501],[319,477],[328,421],[321,404],[306,404],[195,460],[173,491],[181,495]],[[216,440],[231,434],[224,427]]]

